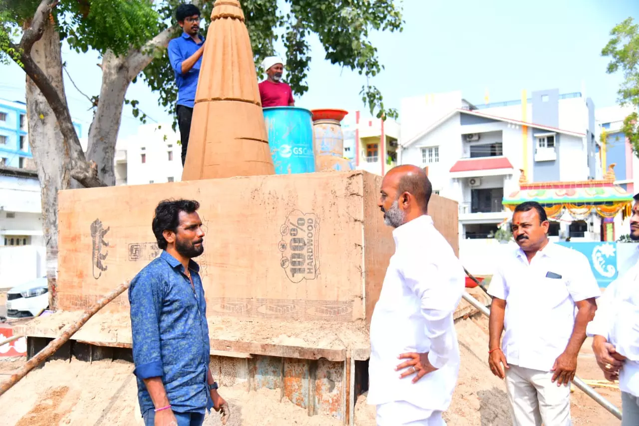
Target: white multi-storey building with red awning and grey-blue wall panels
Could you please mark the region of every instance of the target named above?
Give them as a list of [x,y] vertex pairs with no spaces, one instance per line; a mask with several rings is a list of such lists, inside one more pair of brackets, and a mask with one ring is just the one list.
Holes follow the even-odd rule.
[[[512,216],[505,195],[528,182],[602,177],[594,105],[581,93],[526,93],[520,100],[475,106],[461,92],[404,99],[398,161],[427,168],[433,190],[459,202],[459,235],[486,239]],[[599,222],[555,222],[550,235],[599,239]],[[463,245],[463,244],[462,244]]]

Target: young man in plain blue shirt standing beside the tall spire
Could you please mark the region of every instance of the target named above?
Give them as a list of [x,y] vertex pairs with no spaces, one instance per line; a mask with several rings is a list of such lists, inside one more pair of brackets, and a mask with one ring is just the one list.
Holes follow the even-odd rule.
[[178,86],[178,102],[175,112],[178,114],[182,166],[184,166],[189,145],[191,117],[196,99],[197,79],[204,52],[204,37],[198,34],[200,11],[197,6],[180,4],[175,15],[183,33],[169,42],[169,62],[173,67],[175,83]]

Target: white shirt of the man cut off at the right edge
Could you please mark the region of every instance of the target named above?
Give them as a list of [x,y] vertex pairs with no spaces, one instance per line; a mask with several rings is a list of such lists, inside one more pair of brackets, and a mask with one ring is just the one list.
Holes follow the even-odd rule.
[[639,264],[608,285],[586,334],[604,336],[627,358],[619,371],[619,389],[639,397]]

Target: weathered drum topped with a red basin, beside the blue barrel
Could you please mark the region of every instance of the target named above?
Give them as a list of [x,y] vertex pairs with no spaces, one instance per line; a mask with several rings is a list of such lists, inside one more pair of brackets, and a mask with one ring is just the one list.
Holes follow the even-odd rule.
[[341,121],[348,111],[343,109],[313,109],[315,171],[355,170],[344,158],[344,133]]

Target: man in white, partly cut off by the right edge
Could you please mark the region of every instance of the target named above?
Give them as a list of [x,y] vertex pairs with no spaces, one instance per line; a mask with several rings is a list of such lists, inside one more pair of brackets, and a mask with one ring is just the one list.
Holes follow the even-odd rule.
[[[635,194],[630,238],[639,241],[639,194]],[[608,285],[588,324],[592,350],[604,377],[619,379],[622,426],[639,425],[639,264]]]

